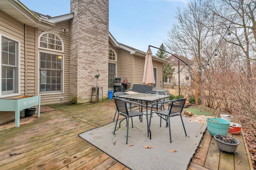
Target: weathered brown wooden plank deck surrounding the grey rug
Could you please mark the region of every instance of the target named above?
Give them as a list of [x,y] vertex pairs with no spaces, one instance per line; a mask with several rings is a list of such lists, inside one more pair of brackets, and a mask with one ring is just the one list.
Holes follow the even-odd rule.
[[[20,127],[14,127],[14,121],[0,125],[1,170],[129,170],[78,137],[79,133],[112,122],[116,110],[112,100],[49,107],[55,111],[41,113],[40,117],[22,118]],[[207,107],[197,107],[216,116],[221,114]],[[202,148],[197,150],[188,169],[253,170],[244,139],[241,135],[234,136],[240,145],[235,154],[225,154],[218,150],[215,139],[206,130]]]

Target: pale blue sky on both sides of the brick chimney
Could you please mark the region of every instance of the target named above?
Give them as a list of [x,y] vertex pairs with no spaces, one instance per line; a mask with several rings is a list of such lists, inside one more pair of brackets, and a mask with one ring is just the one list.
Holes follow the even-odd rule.
[[[70,13],[70,0],[20,0],[30,10],[49,16]],[[119,43],[146,52],[160,47],[176,21],[177,8],[188,0],[109,0],[109,31]],[[152,48],[153,55],[158,49]]]

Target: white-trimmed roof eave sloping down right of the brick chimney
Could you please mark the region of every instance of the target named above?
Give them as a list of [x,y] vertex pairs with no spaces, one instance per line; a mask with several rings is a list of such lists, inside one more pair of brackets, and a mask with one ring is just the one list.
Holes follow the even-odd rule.
[[[124,50],[126,50],[126,51],[129,51],[130,54],[136,54],[136,55],[141,56],[141,57],[146,57],[146,52],[140,51],[140,50],[135,49],[135,48],[133,48],[133,47],[130,47],[130,46],[128,46],[128,45],[124,45],[124,44],[122,44],[122,43],[117,42],[116,39],[113,37],[113,35],[112,35],[110,32],[108,33],[108,35],[109,35],[109,41],[110,41],[110,43],[111,43],[114,47],[120,48],[120,49],[124,49]],[[159,61],[159,62],[161,62],[161,63],[168,63],[167,60],[165,60],[165,59],[160,59],[159,57],[155,57],[154,55],[152,55],[152,60],[154,60],[154,61]]]

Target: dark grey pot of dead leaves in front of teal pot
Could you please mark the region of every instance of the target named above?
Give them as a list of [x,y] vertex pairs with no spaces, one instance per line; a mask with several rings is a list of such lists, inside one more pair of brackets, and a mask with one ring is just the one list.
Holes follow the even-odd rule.
[[[221,136],[224,138],[228,137],[226,135],[221,135]],[[218,148],[225,153],[233,154],[236,151],[237,146],[240,144],[240,142],[233,137],[230,137],[230,138],[234,140],[234,143],[223,142],[218,139],[219,137],[220,135],[214,135],[214,139],[216,140]]]

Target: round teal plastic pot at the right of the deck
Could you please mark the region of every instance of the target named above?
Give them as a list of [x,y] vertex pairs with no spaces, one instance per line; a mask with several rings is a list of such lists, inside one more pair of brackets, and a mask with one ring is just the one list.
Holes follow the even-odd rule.
[[230,121],[216,118],[216,117],[207,117],[207,129],[210,135],[227,135],[230,125]]

